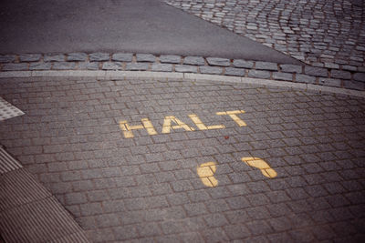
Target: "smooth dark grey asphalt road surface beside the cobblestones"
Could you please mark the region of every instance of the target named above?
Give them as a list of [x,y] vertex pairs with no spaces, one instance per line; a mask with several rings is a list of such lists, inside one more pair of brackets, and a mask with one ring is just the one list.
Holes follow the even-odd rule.
[[133,52],[300,64],[158,0],[0,4],[0,53]]

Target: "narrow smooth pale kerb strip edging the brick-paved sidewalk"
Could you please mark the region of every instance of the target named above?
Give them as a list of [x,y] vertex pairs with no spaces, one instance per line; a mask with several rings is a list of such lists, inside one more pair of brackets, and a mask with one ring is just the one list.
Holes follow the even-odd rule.
[[236,83],[253,86],[287,87],[305,91],[315,91],[324,94],[339,94],[345,96],[365,97],[365,91],[347,89],[333,86],[319,86],[306,83],[267,80],[244,76],[202,75],[192,73],[152,72],[152,71],[104,71],[104,70],[64,70],[64,71],[13,71],[0,72],[0,78],[12,77],[94,77],[99,80],[120,80],[126,78],[151,78],[151,79],[179,79],[203,82]]

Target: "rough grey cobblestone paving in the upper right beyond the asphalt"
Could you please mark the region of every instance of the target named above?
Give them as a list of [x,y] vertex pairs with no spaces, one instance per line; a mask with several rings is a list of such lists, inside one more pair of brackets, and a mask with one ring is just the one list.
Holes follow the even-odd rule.
[[312,66],[364,71],[363,0],[165,0]]

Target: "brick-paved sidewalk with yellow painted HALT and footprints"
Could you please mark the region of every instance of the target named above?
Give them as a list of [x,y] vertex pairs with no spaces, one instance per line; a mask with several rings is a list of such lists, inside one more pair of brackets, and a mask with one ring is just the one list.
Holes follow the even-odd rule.
[[94,242],[360,242],[365,100],[189,80],[8,78],[0,143]]

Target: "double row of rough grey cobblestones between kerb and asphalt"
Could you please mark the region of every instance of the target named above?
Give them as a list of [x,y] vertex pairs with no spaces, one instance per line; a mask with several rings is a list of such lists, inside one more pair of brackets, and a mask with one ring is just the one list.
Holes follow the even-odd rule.
[[154,56],[126,53],[0,55],[0,72],[2,73],[47,70],[152,71],[265,78],[365,90],[365,73],[345,69],[342,66],[339,66],[339,69],[333,69],[203,56]]

